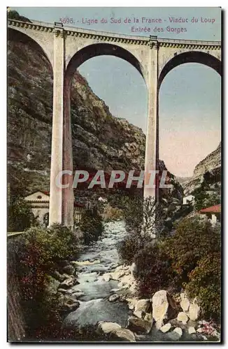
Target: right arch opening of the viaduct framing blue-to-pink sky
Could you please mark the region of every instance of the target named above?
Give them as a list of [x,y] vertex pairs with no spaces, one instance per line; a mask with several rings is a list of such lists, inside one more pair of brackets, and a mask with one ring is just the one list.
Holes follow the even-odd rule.
[[159,77],[159,154],[182,178],[192,177],[221,137],[221,62],[194,53],[173,57]]

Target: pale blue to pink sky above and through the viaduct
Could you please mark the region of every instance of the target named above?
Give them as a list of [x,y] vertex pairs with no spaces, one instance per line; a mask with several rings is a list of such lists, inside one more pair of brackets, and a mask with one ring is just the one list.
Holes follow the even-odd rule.
[[[31,20],[58,22],[69,17],[74,27],[115,33],[190,40],[220,40],[220,8],[11,8]],[[157,24],[125,24],[124,19],[157,18]],[[171,17],[188,22],[170,23]],[[198,22],[191,22],[192,17]],[[101,18],[107,24],[101,24]],[[121,23],[111,23],[111,18]],[[88,25],[89,20],[98,23]],[[211,22],[206,22],[211,20]],[[144,20],[145,21],[145,20]],[[85,23],[86,22],[86,23]],[[163,27],[163,33],[134,33],[131,27]],[[184,27],[173,34],[166,27]],[[89,59],[78,70],[116,117],[124,117],[145,133],[147,89],[136,68],[117,57]],[[159,158],[170,172],[192,176],[195,165],[218,147],[221,128],[221,80],[212,68],[183,64],[171,70],[159,91]]]

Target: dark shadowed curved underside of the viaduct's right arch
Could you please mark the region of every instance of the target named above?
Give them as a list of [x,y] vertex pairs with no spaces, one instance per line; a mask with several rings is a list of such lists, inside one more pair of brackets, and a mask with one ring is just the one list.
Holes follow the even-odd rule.
[[221,61],[211,56],[211,54],[199,51],[190,51],[177,54],[173,57],[162,69],[162,72],[159,75],[158,79],[158,88],[161,86],[164,77],[176,66],[180,66],[180,64],[185,63],[199,63],[204,64],[205,66],[209,66],[217,71],[220,75],[222,75],[222,63]]

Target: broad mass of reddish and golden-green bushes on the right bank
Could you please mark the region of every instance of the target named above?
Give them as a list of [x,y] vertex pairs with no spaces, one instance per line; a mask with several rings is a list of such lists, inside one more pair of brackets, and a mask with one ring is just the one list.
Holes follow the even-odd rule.
[[220,316],[220,226],[200,216],[183,218],[173,235],[152,239],[131,233],[118,247],[124,262],[136,263],[138,292],[152,297],[160,289],[186,288],[207,317]]

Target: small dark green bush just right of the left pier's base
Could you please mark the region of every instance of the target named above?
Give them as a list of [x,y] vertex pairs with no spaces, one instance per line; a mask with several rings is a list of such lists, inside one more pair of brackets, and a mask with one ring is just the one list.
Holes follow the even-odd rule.
[[97,209],[87,209],[83,211],[80,221],[80,229],[84,233],[85,244],[97,241],[99,236],[104,231],[102,217]]

